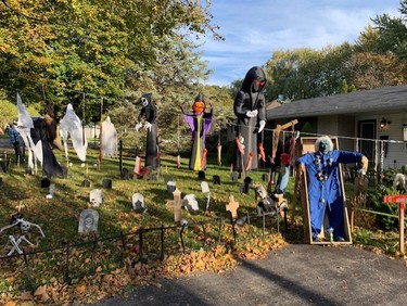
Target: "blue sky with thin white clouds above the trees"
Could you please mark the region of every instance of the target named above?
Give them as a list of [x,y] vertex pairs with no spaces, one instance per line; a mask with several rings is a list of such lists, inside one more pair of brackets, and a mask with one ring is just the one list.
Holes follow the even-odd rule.
[[225,41],[205,38],[208,85],[230,85],[276,50],[354,43],[376,15],[399,16],[399,0],[212,0]]

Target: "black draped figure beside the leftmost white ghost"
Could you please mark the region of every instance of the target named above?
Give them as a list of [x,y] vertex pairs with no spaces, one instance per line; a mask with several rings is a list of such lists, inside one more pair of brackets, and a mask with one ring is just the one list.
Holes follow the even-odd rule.
[[34,128],[30,130],[34,144],[42,143],[42,171],[48,178],[63,177],[63,170],[52,152],[53,141],[56,138],[56,124],[54,113],[47,107],[43,118],[33,119]]

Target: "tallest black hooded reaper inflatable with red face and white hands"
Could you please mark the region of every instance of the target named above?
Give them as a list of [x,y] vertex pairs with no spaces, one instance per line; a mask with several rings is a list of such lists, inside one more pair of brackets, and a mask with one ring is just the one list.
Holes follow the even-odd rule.
[[257,168],[257,133],[266,125],[266,99],[263,92],[266,82],[260,67],[250,68],[234,99],[233,111],[238,117],[234,169],[239,171]]

